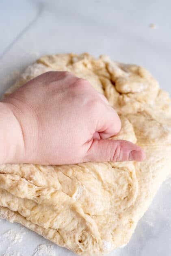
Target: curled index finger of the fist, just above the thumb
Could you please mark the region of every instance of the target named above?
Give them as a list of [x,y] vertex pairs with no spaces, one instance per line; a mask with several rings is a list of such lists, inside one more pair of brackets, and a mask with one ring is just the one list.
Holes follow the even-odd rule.
[[97,117],[96,132],[99,132],[101,139],[108,139],[121,130],[121,121],[117,112],[107,104],[102,104]]

